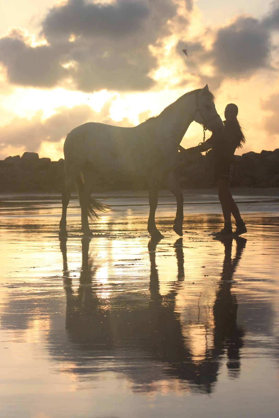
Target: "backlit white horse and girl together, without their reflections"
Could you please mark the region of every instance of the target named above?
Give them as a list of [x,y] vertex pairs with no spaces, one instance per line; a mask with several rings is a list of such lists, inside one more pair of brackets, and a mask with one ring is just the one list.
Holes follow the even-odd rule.
[[[245,143],[237,120],[238,108],[228,104],[225,121],[221,120],[214,104],[214,96],[206,85],[203,89],[187,92],[167,106],[160,115],[151,117],[135,127],[118,127],[88,122],[74,128],[64,143],[65,188],[62,192],[61,237],[67,236],[67,206],[73,185],[76,186],[81,207],[81,230],[92,235],[88,217],[98,218],[108,206],[91,196],[96,176],[115,179],[145,178],[149,191],[149,217],[147,229],[152,238],[161,238],[156,227],[155,212],[159,187],[163,184],[174,194],[177,212],[173,229],[182,236],[183,193],[173,170],[179,162],[179,150],[184,154],[200,153],[212,149],[218,196],[224,216],[224,228],[217,236],[238,236],[246,226],[230,192],[234,171],[234,152]],[[179,144],[191,122],[210,130],[212,136],[197,147],[185,150]],[[236,221],[233,232],[231,214]]]

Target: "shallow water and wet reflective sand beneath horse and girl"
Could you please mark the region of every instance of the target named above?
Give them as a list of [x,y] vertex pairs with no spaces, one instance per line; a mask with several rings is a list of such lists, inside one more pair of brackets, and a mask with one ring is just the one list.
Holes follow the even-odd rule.
[[164,195],[158,242],[146,194],[106,197],[59,239],[57,196],[0,196],[0,416],[277,417],[278,198],[239,196],[248,233],[217,240],[216,196],[187,196],[179,238]]

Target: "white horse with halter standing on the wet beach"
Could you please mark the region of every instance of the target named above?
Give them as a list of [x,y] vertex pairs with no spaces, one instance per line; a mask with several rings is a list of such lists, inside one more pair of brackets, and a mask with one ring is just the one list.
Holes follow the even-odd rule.
[[174,231],[182,236],[183,194],[174,178],[173,169],[179,161],[178,146],[190,123],[200,123],[213,133],[223,133],[214,96],[206,85],[179,97],[157,117],[135,127],[118,127],[89,122],[74,128],[64,143],[65,189],[62,192],[62,217],[59,235],[67,236],[66,215],[75,184],[82,213],[82,232],[92,235],[88,223],[98,218],[96,211],[107,206],[90,195],[94,177],[142,177],[148,180],[149,217],[147,229],[151,237],[162,237],[156,227],[155,211],[161,181],[174,194],[177,212]]

